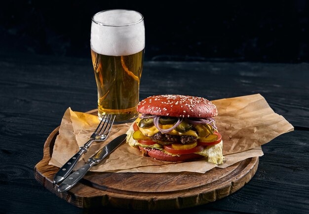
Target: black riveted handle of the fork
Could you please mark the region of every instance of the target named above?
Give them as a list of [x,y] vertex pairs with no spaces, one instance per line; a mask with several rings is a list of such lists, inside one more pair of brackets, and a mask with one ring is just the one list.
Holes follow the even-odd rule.
[[90,141],[88,141],[87,143],[85,143],[85,145],[83,147],[81,147],[79,149],[79,151],[73,156],[71,157],[67,163],[65,163],[60,170],[56,173],[55,177],[54,177],[54,181],[53,183],[60,183],[61,181],[63,181],[65,178],[67,178],[67,176],[72,172],[72,170],[74,169],[74,167],[76,166],[78,160],[80,159],[81,155],[83,153],[87,152],[87,149],[89,148],[90,145],[89,144]]

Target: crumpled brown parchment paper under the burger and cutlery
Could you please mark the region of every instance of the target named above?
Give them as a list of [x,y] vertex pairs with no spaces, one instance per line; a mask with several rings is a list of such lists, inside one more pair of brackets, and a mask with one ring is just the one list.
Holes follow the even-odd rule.
[[[208,163],[205,159],[174,163],[142,156],[138,148],[122,143],[112,154],[91,171],[95,172],[196,172],[205,173],[214,167],[225,168],[238,161],[263,155],[261,145],[277,136],[293,131],[294,127],[281,115],[276,114],[260,94],[212,101],[218,108],[216,125],[223,138],[222,165]],[[96,129],[99,119],[96,115],[73,111],[70,107],[64,113],[53,148],[50,165],[63,166]],[[93,143],[79,160],[82,166],[96,151],[117,136],[124,134],[131,123],[114,125],[104,143]]]

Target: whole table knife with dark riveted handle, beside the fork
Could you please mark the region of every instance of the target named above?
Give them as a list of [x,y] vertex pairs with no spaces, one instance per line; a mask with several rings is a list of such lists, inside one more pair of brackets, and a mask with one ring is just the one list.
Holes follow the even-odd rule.
[[77,182],[84,177],[92,166],[99,164],[104,158],[112,153],[125,139],[126,134],[118,136],[116,139],[106,144],[95,155],[88,159],[88,162],[72,173],[58,186],[58,192],[64,192],[71,189]]

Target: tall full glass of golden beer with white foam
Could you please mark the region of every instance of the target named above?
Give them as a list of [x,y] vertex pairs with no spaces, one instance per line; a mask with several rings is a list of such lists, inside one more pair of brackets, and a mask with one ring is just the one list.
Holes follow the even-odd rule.
[[134,10],[112,9],[93,15],[91,58],[98,89],[98,116],[115,123],[138,117],[139,84],[145,51],[144,17]]

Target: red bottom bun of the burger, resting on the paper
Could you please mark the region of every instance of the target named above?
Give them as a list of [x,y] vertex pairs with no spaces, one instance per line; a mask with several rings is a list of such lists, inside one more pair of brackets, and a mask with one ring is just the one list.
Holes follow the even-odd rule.
[[194,159],[200,159],[203,158],[204,156],[199,155],[199,154],[182,154],[180,156],[172,156],[169,154],[165,154],[161,150],[158,149],[153,149],[153,148],[144,148],[142,146],[139,146],[141,150],[144,150],[147,152],[147,154],[155,158],[157,160],[162,160],[162,161],[171,161],[171,162],[178,162],[178,161],[189,161],[189,160],[194,160]]

